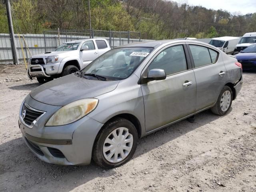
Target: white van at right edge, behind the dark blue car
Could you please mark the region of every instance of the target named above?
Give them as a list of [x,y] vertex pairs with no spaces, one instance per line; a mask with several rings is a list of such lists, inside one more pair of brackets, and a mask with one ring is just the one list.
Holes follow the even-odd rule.
[[242,36],[242,38],[236,45],[234,54],[238,54],[240,51],[244,50],[246,47],[254,43],[256,43],[256,32],[244,34],[244,36]]

